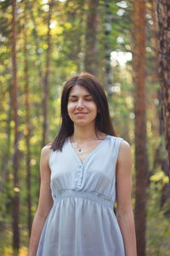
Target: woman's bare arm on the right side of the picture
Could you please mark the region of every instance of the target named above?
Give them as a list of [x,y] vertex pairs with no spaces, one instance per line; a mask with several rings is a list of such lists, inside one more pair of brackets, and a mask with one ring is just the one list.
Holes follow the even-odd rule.
[[126,256],[137,256],[131,205],[132,166],[133,158],[130,146],[123,140],[116,163],[116,218],[122,232]]

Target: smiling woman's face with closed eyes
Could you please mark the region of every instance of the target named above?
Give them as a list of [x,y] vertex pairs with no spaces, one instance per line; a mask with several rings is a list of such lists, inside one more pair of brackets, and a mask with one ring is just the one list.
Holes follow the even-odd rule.
[[75,85],[71,88],[67,111],[74,125],[83,126],[95,123],[96,103],[89,91],[81,85]]

